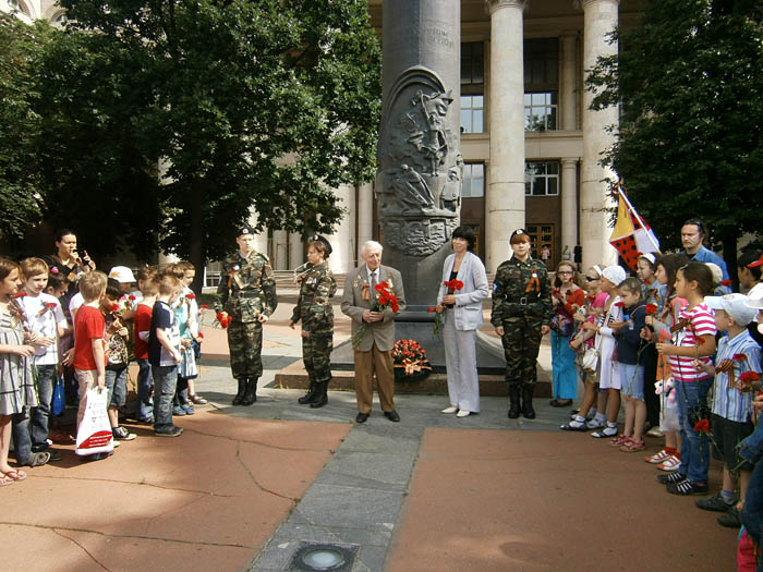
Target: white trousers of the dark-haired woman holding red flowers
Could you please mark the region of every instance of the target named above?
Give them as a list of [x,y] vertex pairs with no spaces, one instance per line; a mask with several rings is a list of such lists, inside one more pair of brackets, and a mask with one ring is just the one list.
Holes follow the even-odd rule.
[[460,410],[479,413],[480,377],[476,370],[476,337],[474,330],[456,329],[452,309],[445,311],[443,342],[450,404]]

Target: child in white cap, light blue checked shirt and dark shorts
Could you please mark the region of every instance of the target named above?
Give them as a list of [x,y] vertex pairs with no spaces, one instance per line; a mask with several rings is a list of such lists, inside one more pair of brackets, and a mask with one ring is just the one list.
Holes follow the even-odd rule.
[[718,342],[715,367],[703,362],[698,364],[707,375],[715,375],[711,414],[713,457],[724,462],[724,480],[718,495],[699,499],[697,506],[704,510],[727,512],[718,518],[718,522],[737,528],[741,523],[736,509],[734,474],[739,471],[739,498],[744,498],[754,467],[740,459],[736,450],[737,443],[753,430],[750,418],[752,393],[749,387],[740,385],[740,377],[744,372],[761,370],[760,346],[747,331],[747,325],[755,318],[756,312],[748,307],[747,301],[743,294],[705,297],[707,307],[715,311],[715,325],[728,336]]

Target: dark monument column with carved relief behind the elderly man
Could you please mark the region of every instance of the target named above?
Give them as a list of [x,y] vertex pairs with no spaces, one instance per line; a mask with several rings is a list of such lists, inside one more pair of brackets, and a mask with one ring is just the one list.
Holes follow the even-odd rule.
[[375,193],[383,264],[400,270],[417,319],[434,305],[459,224],[461,2],[385,0]]

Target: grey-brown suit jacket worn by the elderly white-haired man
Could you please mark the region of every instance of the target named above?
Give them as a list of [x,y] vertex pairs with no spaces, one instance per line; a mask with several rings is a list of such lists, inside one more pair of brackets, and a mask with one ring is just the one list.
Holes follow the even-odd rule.
[[[379,266],[379,281],[389,284],[389,291],[395,294],[400,305],[400,312],[405,309],[405,292],[402,288],[402,277],[395,268]],[[356,350],[370,352],[374,343],[382,352],[388,352],[395,345],[395,313],[387,307],[384,311],[384,320],[367,322],[363,321],[363,311],[371,309],[373,296],[363,300],[363,287],[370,287],[368,269],[365,264],[348,272],[344,281],[344,295],[342,296],[341,309],[352,318],[352,333],[358,331],[362,324],[365,324],[365,333]],[[371,294],[371,293],[370,293]]]

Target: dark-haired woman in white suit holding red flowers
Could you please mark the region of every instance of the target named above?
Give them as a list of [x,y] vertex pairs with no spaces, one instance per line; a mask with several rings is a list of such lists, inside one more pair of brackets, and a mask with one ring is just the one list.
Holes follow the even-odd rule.
[[[480,412],[480,378],[476,369],[475,331],[482,326],[482,301],[489,295],[485,265],[472,250],[474,234],[463,227],[453,231],[453,254],[443,265],[443,282],[437,294],[437,312],[445,313],[443,341],[448,372],[450,406],[443,413],[465,417]],[[456,290],[445,282],[458,280]]]

